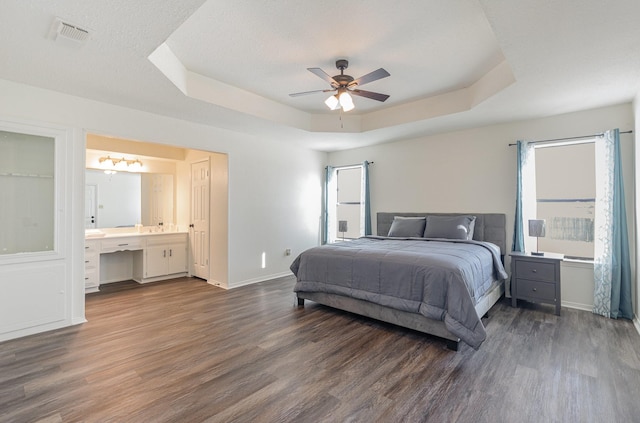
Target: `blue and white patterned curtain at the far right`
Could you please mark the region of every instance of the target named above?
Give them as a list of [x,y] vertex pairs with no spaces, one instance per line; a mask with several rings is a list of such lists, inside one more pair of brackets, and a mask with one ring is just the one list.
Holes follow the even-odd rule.
[[632,319],[631,260],[620,160],[620,131],[596,139],[596,215],[593,312]]

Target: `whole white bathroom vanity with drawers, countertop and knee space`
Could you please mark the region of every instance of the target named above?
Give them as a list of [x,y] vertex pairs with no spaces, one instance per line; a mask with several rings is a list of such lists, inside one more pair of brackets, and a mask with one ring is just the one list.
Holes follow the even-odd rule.
[[188,275],[187,232],[100,230],[85,238],[85,293],[101,284],[156,282]]

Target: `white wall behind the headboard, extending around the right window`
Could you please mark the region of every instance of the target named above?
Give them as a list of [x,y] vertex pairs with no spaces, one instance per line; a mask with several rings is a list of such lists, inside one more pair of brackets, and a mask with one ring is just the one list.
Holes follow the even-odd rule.
[[[515,209],[515,147],[518,139],[540,140],[634,129],[631,104],[544,119],[492,125],[329,154],[332,166],[375,162],[370,167],[371,211],[496,212],[507,215],[511,246]],[[635,255],[633,136],[621,136],[627,215]],[[535,245],[535,244],[534,244]],[[507,267],[509,260],[507,260]],[[635,263],[632,263],[635,274]],[[509,269],[508,269],[509,270]],[[563,303],[593,304],[592,269],[563,267]],[[586,273],[585,273],[586,272]]]

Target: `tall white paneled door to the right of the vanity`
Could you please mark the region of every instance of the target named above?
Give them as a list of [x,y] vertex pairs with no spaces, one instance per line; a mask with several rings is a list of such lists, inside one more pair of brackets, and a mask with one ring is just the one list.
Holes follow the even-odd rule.
[[191,274],[209,279],[209,160],[191,164]]

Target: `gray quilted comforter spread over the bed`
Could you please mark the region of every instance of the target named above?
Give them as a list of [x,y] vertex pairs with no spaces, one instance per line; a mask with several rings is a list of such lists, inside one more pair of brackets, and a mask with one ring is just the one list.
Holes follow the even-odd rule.
[[291,265],[294,291],[326,292],[442,320],[478,348],[485,340],[474,308],[507,278],[499,249],[480,241],[365,237],[311,248]]

